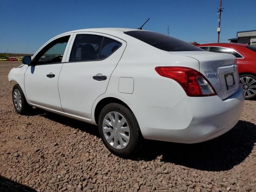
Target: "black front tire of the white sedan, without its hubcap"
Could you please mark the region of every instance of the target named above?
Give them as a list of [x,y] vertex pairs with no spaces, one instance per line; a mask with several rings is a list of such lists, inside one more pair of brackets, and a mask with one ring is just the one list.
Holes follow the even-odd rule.
[[[17,108],[15,103],[14,103],[14,90],[18,90],[20,92],[20,98],[21,98],[21,108]],[[14,106],[14,109],[16,110],[16,112],[18,114],[21,115],[28,115],[31,112],[32,106],[30,106],[24,96],[24,93],[22,91],[22,89],[20,88],[19,84],[16,84],[13,86],[12,88],[12,103]]]

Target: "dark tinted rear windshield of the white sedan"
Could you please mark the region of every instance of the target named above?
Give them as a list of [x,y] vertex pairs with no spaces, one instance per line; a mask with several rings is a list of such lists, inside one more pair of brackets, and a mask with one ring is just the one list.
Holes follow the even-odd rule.
[[204,51],[192,44],[161,33],[140,30],[124,33],[164,51]]

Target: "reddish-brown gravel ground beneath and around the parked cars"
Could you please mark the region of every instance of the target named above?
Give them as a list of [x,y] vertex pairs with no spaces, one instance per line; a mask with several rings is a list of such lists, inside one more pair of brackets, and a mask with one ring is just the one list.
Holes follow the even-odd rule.
[[0,191],[256,191],[256,101],[238,124],[200,144],[147,141],[138,156],[108,152],[96,126],[33,109],[14,111],[0,62]]

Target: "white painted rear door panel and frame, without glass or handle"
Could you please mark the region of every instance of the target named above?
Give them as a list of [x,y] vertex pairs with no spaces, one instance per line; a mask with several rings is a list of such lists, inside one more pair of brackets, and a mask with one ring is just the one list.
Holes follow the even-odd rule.
[[[68,52],[71,52],[72,44],[77,34],[98,35],[99,33],[75,33]],[[62,109],[68,114],[75,114],[83,118],[91,119],[92,105],[95,99],[106,92],[108,81],[126,48],[126,42],[114,36],[104,36],[121,42],[122,46],[118,48],[114,54],[104,60],[69,62],[69,57],[67,57],[67,63],[64,63],[62,66],[58,80],[58,89]],[[97,74],[107,76],[107,79],[104,81],[96,81],[92,76],[96,76]]]

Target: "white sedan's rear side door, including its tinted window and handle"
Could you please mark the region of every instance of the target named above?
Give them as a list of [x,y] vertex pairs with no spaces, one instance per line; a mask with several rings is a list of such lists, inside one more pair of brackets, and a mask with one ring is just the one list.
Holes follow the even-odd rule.
[[78,32],[71,44],[58,81],[61,106],[68,114],[90,120],[92,105],[106,92],[126,42],[106,34]]

